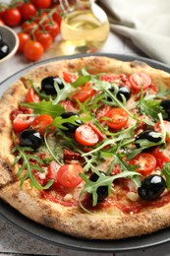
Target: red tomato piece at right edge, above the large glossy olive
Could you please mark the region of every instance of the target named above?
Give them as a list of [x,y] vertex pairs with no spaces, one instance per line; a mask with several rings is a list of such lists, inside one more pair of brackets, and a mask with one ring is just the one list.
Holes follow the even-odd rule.
[[166,154],[166,152],[160,151],[160,149],[157,147],[152,151],[152,155],[156,159],[156,165],[160,169],[163,168],[163,165],[170,161],[170,157]]

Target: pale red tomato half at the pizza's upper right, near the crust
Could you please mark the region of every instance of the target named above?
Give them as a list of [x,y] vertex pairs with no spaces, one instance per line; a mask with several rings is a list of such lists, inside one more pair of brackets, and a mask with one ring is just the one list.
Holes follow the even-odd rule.
[[134,73],[129,77],[131,86],[137,92],[140,92],[141,87],[143,90],[148,88],[151,85],[151,78],[145,73]]

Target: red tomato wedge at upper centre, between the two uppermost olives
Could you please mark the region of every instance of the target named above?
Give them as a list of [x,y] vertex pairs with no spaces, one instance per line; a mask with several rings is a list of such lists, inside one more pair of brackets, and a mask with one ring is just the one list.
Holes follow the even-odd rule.
[[80,91],[72,96],[72,99],[85,102],[88,97],[94,96],[95,90],[90,87],[89,83],[85,84],[85,87],[81,87]]

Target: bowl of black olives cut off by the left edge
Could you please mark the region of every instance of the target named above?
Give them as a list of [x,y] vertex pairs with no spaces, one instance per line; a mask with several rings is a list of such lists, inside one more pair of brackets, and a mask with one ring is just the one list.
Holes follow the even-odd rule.
[[17,33],[7,26],[0,26],[0,63],[11,58],[19,47]]

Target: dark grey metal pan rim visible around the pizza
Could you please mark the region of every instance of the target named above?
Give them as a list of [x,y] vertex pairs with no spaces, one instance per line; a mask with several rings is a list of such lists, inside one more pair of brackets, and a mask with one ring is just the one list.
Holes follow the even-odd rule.
[[[85,56],[107,56],[123,61],[132,61],[138,60],[145,62],[156,69],[162,69],[168,73],[170,73],[170,67],[159,63],[154,60],[150,60],[147,58],[142,58],[138,56],[130,56],[130,55],[120,55],[120,54],[110,54],[110,53],[95,53],[95,54],[79,54],[79,55],[72,55],[72,56],[65,56],[60,58],[53,58],[49,60],[45,60],[36,64],[32,64],[27,68],[21,70],[20,72],[16,73],[15,75],[9,77],[4,82],[1,83],[0,86],[0,96],[6,91],[6,89],[14,83],[18,78],[23,76],[28,70],[34,68],[37,65],[45,64],[50,61],[58,61],[64,59],[73,59],[73,58],[81,58]],[[154,232],[149,235],[142,235],[140,237],[132,237],[120,240],[85,240],[85,239],[78,239],[63,233],[60,233],[56,230],[51,228],[42,226],[41,224],[36,224],[25,216],[21,215],[15,209],[10,207],[8,204],[4,203],[0,200],[0,216],[9,222],[10,224],[15,225],[20,230],[26,232],[28,235],[38,238],[44,242],[65,247],[68,249],[80,250],[80,251],[91,251],[91,252],[127,252],[130,250],[137,250],[148,248],[156,245],[160,245],[170,241],[170,229],[162,229],[160,231]]]

